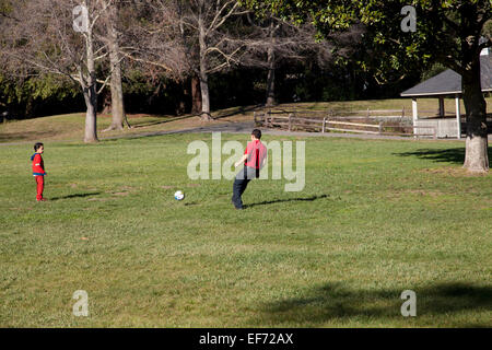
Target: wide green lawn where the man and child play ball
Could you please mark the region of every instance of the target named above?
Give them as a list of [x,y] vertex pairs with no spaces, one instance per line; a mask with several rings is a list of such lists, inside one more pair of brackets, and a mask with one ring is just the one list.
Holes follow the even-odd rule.
[[254,180],[236,211],[187,177],[198,139],[45,142],[42,203],[32,144],[1,145],[0,326],[492,326],[492,175],[462,142],[266,136],[306,141],[306,186]]

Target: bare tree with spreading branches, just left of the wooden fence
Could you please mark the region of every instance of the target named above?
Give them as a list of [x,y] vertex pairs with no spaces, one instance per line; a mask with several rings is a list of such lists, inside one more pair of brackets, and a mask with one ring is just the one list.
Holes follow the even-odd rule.
[[189,79],[194,107],[210,120],[209,75],[236,65],[244,48],[224,28],[247,11],[235,0],[142,0],[133,8],[124,55],[176,80]]

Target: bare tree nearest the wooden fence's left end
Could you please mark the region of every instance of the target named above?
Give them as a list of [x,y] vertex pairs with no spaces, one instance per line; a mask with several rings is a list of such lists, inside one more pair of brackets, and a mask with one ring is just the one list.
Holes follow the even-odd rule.
[[[157,27],[149,34],[155,37],[162,35],[162,31],[173,33],[173,39],[168,40],[173,45],[167,45],[165,56],[168,58],[169,47],[179,51],[178,75],[190,78],[194,106],[200,105],[200,117],[210,120],[209,75],[236,65],[244,47],[244,43],[231,36],[230,31],[224,28],[230,20],[247,11],[233,0],[150,2],[154,16],[159,16],[159,20],[154,21]],[[171,70],[176,69],[176,65],[169,67],[169,60],[165,66]]]

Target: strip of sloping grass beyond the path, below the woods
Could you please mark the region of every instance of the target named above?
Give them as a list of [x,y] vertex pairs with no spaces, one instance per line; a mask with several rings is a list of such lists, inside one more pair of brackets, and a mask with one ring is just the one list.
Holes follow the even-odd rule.
[[[488,113],[492,114],[492,97],[487,98]],[[372,101],[348,101],[348,102],[319,102],[319,103],[297,103],[297,104],[281,104],[280,109],[312,109],[312,110],[331,110],[335,115],[365,115],[367,108],[371,110],[377,109],[394,109],[402,110],[405,108],[406,115],[410,116],[412,110],[412,102],[410,98],[395,98],[395,100],[372,100]],[[438,108],[437,98],[420,98],[419,113],[422,116],[435,115]],[[455,101],[453,98],[445,98],[446,113],[454,113]],[[132,129],[125,129],[122,131],[101,132],[110,124],[109,115],[99,115],[97,118],[97,130],[99,138],[115,138],[124,136],[136,136],[141,133],[152,133],[159,131],[171,131],[189,129],[200,126],[209,126],[210,124],[230,124],[253,120],[253,114],[258,110],[257,106],[234,107],[227,109],[215,110],[212,113],[216,118],[213,121],[203,122],[200,118],[192,115],[184,116],[157,116],[157,115],[129,115],[129,122],[133,126]],[[429,113],[434,110],[434,113]],[[465,107],[461,101],[461,110]],[[364,112],[364,113],[361,113]],[[393,112],[393,115],[398,113]],[[373,114],[374,115],[374,114]],[[43,118],[35,118],[28,120],[17,120],[7,124],[0,124],[0,143],[12,142],[27,142],[43,140],[56,141],[72,141],[82,140],[84,135],[85,114],[75,113],[70,115],[50,116]]]

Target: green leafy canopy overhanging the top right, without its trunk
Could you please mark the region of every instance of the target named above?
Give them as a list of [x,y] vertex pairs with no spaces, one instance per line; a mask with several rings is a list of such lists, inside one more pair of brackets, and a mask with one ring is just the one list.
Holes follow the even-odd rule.
[[[364,46],[373,57],[364,62],[373,67],[382,81],[388,80],[388,72],[407,74],[417,67],[429,67],[436,61],[453,69],[466,67],[460,36],[464,40],[469,37],[478,40],[481,35],[477,31],[480,30],[478,13],[483,13],[485,19],[492,15],[490,0],[465,3],[448,0],[441,1],[441,5],[435,1],[414,0],[410,4],[417,11],[417,31],[403,32],[400,9],[409,4],[406,0],[249,0],[248,4],[255,9],[260,2],[279,15],[313,22],[325,37],[356,23],[365,24]],[[469,18],[470,23],[461,22],[464,16]],[[489,26],[485,26],[485,32],[490,31]]]

